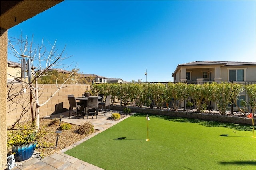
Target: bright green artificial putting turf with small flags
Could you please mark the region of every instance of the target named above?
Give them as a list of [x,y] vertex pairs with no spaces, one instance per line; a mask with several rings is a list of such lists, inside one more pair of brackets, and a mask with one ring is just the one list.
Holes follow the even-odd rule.
[[65,153],[106,170],[256,169],[252,126],[136,114]]

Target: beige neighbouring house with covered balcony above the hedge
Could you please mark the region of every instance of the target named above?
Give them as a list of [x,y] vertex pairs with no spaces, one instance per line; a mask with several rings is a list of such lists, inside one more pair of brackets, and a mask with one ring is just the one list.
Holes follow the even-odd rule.
[[256,63],[237,61],[193,61],[178,64],[174,82],[256,81]]

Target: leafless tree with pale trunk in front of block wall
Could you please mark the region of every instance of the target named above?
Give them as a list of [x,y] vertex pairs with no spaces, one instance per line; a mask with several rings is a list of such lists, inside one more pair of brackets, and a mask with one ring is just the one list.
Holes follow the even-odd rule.
[[[18,41],[17,41],[18,40]],[[36,101],[36,109],[35,109],[35,122],[36,126],[39,128],[39,118],[40,118],[40,110],[39,108],[41,106],[44,106],[51,98],[61,89],[65,88],[64,84],[66,81],[74,74],[74,71],[64,80],[64,82],[61,85],[57,84],[58,77],[56,78],[56,87],[57,90],[51,94],[51,96],[48,97],[48,99],[44,103],[40,103],[39,100],[39,90],[38,87],[38,78],[42,76],[47,76],[48,72],[47,70],[51,68],[59,68],[60,66],[63,66],[61,64],[61,61],[64,59],[67,59],[66,55],[64,55],[65,47],[62,51],[60,51],[60,54],[57,53],[58,49],[56,49],[56,41],[54,44],[44,45],[44,39],[42,39],[42,42],[38,45],[36,45],[33,42],[33,36],[31,38],[31,41],[28,41],[28,37],[25,39],[20,36],[20,39],[8,39],[8,47],[11,50],[11,54],[16,56],[20,61],[22,60],[22,57],[28,57],[28,61],[31,61],[31,68],[36,68],[35,72],[31,72],[31,80],[26,80],[22,77],[20,77],[20,74],[16,75],[10,75],[13,78],[21,81],[22,83],[25,83],[30,88],[30,102],[32,103],[32,100],[34,99]],[[49,48],[50,50],[48,50]],[[29,63],[29,62],[28,62]],[[29,64],[26,64],[26,68],[29,68]],[[70,67],[70,66],[67,66]],[[73,69],[75,70],[75,69]],[[30,70],[27,70],[30,71]],[[34,115],[34,113],[32,113]]]

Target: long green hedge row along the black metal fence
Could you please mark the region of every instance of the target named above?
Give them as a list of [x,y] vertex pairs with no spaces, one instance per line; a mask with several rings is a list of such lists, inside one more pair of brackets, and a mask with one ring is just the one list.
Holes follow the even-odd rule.
[[[237,100],[246,90],[248,101],[240,100],[238,107]],[[256,111],[256,84],[241,85],[236,83],[204,83],[204,84],[186,84],[186,83],[125,83],[125,84],[93,84],[92,94],[112,95],[111,102],[121,100],[124,106],[135,103],[138,107],[150,106],[151,101],[159,109],[164,102],[172,103],[174,110],[178,110],[185,99],[190,98],[198,113],[202,113],[209,101],[214,101],[223,115],[228,104],[235,104],[239,111],[245,114],[250,111]]]

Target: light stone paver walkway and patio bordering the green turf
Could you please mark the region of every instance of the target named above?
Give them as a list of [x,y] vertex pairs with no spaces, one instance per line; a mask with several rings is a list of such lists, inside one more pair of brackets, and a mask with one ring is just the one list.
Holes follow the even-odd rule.
[[[118,113],[119,111],[113,111],[113,112]],[[77,117],[76,119],[74,119],[74,117],[70,117],[70,118],[68,117],[68,111],[67,111],[64,113],[58,113],[55,115],[46,116],[44,118],[59,119],[61,114],[64,115],[64,117],[61,120],[63,122],[72,123],[75,125],[81,125],[86,121],[90,121],[94,125],[94,129],[97,129],[99,131],[54,153],[53,155],[42,158],[41,160],[37,158],[30,158],[22,162],[15,162],[16,165],[19,167],[15,167],[13,168],[13,170],[102,170],[102,168],[99,168],[97,166],[89,164],[88,162],[84,162],[82,160],[79,160],[67,154],[64,154],[64,152],[66,152],[69,149],[72,149],[76,145],[79,145],[80,143],[90,139],[91,137],[94,137],[98,133],[101,133],[102,131],[108,129],[109,127],[112,127],[113,125],[129,117],[127,116],[119,121],[112,121],[107,119],[108,117],[111,116],[109,112],[107,112],[107,115],[103,115],[101,112],[99,112],[98,119],[96,119],[96,116],[93,116],[94,119],[92,119],[91,116],[89,116],[89,119],[87,119],[87,116],[84,116],[84,119],[82,119],[82,117]]]

